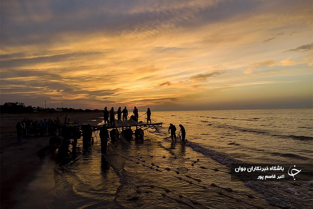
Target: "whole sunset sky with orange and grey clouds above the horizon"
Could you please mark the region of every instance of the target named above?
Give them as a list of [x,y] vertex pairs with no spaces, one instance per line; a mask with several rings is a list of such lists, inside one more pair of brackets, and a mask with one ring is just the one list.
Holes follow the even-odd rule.
[[0,103],[312,108],[312,1],[1,1]]

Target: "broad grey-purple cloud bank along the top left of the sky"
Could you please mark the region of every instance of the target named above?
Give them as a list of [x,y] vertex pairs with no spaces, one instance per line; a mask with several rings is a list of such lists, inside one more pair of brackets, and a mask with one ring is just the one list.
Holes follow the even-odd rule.
[[[198,28],[241,15],[253,15],[262,1],[192,4],[188,1],[10,1],[1,5],[1,44],[49,44],[65,35]],[[249,14],[250,13],[250,14]],[[188,18],[186,18],[188,17]]]

